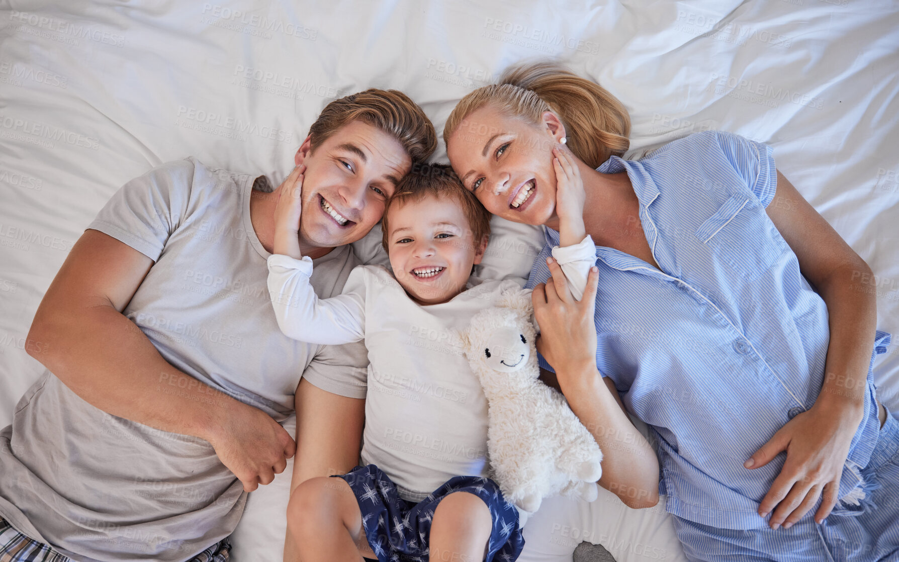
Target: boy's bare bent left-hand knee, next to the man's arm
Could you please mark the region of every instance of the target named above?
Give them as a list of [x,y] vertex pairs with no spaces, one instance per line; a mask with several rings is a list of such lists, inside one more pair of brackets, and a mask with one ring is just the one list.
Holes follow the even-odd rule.
[[359,503],[343,478],[316,477],[300,484],[290,496],[287,525],[303,562],[377,558],[368,549]]

